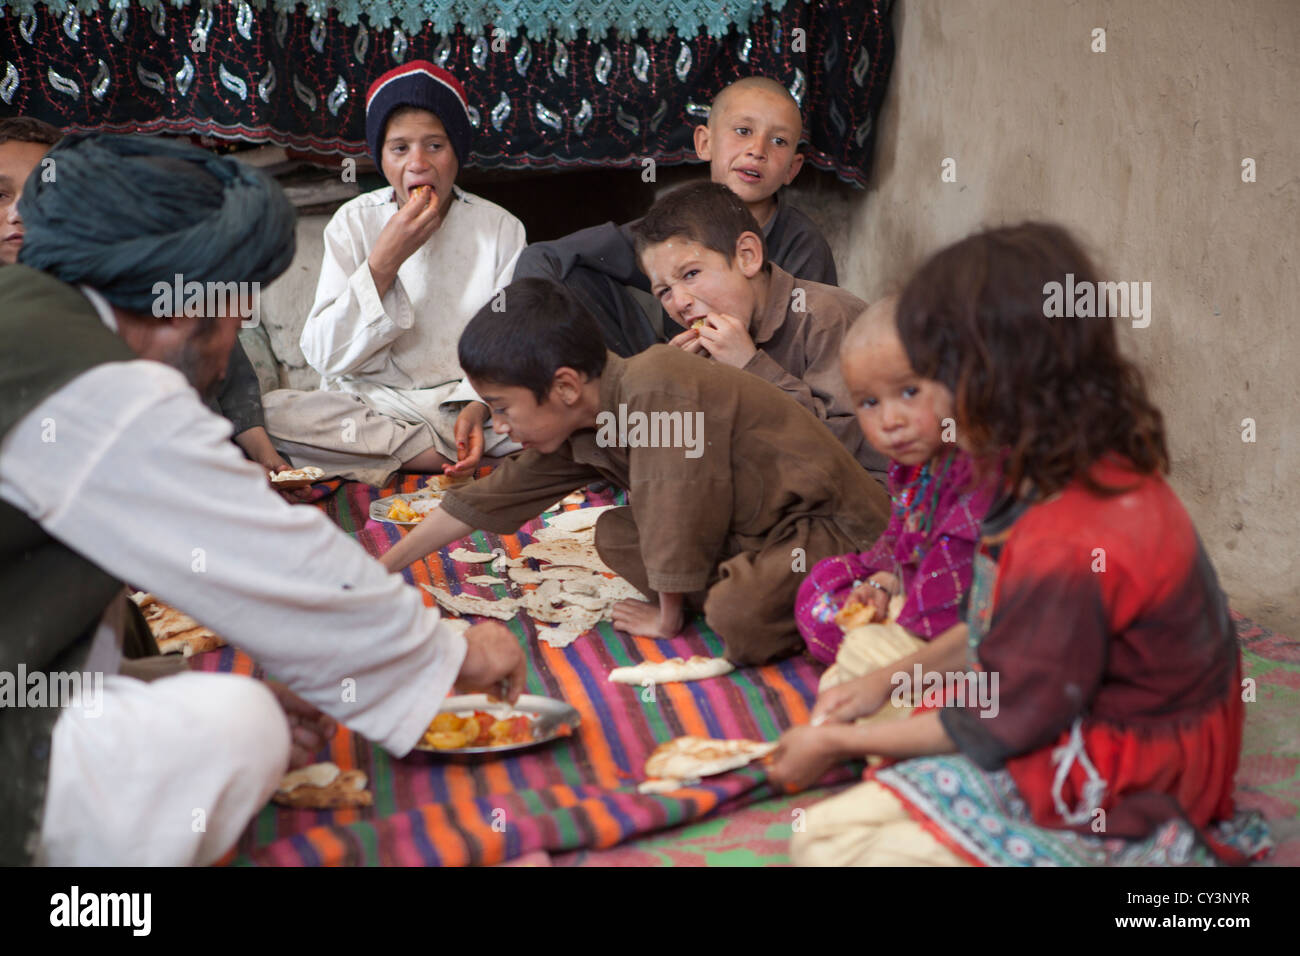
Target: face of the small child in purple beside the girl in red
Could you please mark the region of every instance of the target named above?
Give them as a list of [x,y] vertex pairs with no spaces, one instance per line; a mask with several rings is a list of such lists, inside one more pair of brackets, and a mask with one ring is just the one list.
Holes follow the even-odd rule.
[[845,352],[840,368],[858,425],[881,454],[902,464],[920,464],[948,446],[945,437],[959,441],[952,393],[913,371],[896,336]]

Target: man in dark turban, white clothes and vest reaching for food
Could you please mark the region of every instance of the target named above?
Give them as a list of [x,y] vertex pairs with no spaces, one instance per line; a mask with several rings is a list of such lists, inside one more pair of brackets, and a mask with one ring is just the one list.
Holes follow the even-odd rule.
[[[203,406],[240,323],[222,284],[292,258],[280,187],[144,137],[69,137],[47,159],[0,269],[0,864],[211,862],[332,718],[404,754],[452,685],[517,696],[523,653],[502,626],[454,633],[285,503]],[[126,676],[152,640],[124,581],[286,687]]]

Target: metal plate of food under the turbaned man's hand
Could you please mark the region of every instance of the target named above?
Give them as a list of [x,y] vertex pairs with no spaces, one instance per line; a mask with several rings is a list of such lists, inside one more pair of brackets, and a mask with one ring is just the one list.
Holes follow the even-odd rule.
[[581,722],[576,709],[554,697],[525,693],[510,705],[465,693],[443,701],[413,749],[445,757],[514,753],[567,737]]

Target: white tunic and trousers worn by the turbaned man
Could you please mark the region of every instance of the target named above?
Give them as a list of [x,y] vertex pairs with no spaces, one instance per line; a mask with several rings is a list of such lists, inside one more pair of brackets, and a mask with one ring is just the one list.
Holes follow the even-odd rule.
[[[287,505],[230,442],[230,423],[157,362],[99,365],[31,410],[0,444],[0,498],[398,756],[464,659],[464,639],[419,592],[317,509]],[[125,600],[87,661],[110,675],[103,713],[65,710],[55,726],[43,860],[208,862],[278,782],[287,726],[247,678],[114,674]]]

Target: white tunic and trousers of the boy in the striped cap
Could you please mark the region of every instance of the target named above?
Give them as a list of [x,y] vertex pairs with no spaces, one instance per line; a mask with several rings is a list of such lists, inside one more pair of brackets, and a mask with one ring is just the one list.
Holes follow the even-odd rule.
[[[438,232],[400,265],[382,297],[367,259],[396,215],[393,189],[344,203],[325,226],[316,302],[300,342],[321,373],[321,390],[281,389],[263,398],[266,431],[294,464],[384,484],[430,447],[456,458],[456,414],[477,399],[456,345],[474,313],[510,282],[526,239],[524,225],[502,207],[460,189],[452,194]],[[484,441],[494,454],[517,447],[490,429]]]

